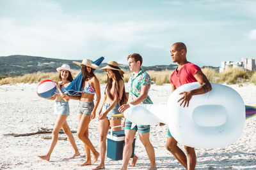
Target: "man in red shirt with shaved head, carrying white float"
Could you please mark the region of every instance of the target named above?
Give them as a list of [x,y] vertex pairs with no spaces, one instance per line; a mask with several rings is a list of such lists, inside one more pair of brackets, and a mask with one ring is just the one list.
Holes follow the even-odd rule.
[[[188,62],[186,59],[187,48],[184,43],[174,43],[171,47],[171,57],[173,62],[177,62],[178,67],[173,71],[170,76],[170,83],[172,84],[172,92],[184,85],[186,83],[193,83],[198,81],[200,83],[200,87],[197,89],[193,89],[189,92],[182,92],[180,95],[183,95],[179,101],[180,106],[183,107],[189,106],[189,101],[192,96],[198,94],[204,94],[209,92],[212,87],[207,80],[204,73],[202,73],[200,67]],[[177,146],[177,141],[172,137],[170,131],[168,131],[168,138],[166,141],[166,148],[169,150],[173,156],[184,166],[186,169],[195,169],[196,167],[196,153],[195,148],[191,148],[189,146],[184,146],[187,156],[182,150]]]

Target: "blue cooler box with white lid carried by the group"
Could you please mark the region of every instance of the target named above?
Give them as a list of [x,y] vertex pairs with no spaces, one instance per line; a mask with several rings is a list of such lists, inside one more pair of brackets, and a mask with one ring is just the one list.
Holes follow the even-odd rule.
[[[120,131],[111,131],[107,135],[107,157],[113,160],[122,160],[123,159],[123,150],[124,150],[124,130]],[[132,143],[132,156],[134,156],[134,146],[135,139]]]

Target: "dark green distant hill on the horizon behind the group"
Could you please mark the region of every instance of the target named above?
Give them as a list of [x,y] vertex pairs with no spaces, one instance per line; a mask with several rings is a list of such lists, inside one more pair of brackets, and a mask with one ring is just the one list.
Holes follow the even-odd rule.
[[[41,72],[54,72],[57,67],[62,64],[68,64],[72,69],[80,69],[77,64],[72,63],[73,60],[52,59],[46,57],[35,57],[29,55],[10,55],[0,57],[0,75],[3,76],[20,76],[28,73]],[[81,62],[81,60],[75,60]],[[106,61],[107,62],[107,61]],[[107,65],[103,62],[100,67]],[[148,66],[143,67],[145,71],[154,70],[161,71],[165,69],[173,70],[177,67],[175,64]],[[129,67],[125,64],[120,64],[120,68],[124,71],[129,71]],[[101,71],[96,71],[101,72]],[[103,72],[103,71],[102,71]]]

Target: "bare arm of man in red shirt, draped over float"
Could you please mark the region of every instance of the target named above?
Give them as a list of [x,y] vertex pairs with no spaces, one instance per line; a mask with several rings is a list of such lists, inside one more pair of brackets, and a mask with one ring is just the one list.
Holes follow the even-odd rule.
[[189,92],[180,93],[180,94],[183,94],[183,96],[179,99],[179,101],[181,101],[180,106],[183,103],[184,103],[183,107],[185,107],[186,105],[188,106],[192,96],[198,95],[198,94],[204,94],[212,90],[211,83],[209,82],[205,74],[202,73],[202,71],[197,71],[194,77],[196,78],[198,83],[200,83],[201,86],[194,90],[190,90]]

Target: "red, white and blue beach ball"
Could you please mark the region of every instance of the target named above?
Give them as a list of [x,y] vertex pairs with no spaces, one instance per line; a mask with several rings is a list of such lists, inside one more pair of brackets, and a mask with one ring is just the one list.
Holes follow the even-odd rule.
[[49,98],[54,96],[56,91],[56,83],[52,80],[42,80],[37,86],[36,93],[40,97]]

